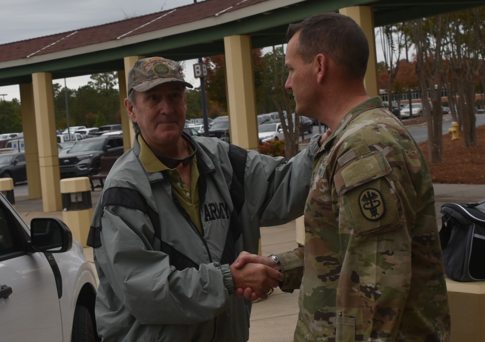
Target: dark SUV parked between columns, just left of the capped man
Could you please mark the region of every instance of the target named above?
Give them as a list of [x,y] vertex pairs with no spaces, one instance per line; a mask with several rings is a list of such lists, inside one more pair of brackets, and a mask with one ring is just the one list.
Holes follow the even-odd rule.
[[122,136],[83,139],[59,157],[61,178],[85,177],[89,169],[100,167],[102,156],[120,156],[124,152]]

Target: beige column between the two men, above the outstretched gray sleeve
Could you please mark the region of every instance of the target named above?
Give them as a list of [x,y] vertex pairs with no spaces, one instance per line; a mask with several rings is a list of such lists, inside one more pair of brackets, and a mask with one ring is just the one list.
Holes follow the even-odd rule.
[[230,137],[235,145],[259,149],[251,37],[224,37]]

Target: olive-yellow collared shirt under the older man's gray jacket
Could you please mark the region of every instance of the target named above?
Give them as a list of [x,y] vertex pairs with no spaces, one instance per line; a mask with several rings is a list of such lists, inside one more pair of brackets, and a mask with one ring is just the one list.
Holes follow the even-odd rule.
[[[145,143],[145,140],[139,135],[138,143],[140,144],[140,160],[143,167],[148,172],[168,171],[168,179],[172,184],[173,192],[177,197],[180,205],[185,209],[194,225],[202,235],[202,221],[199,210],[199,169],[197,168],[197,157],[194,155],[190,161],[190,188],[184,184],[180,177],[179,171],[176,169],[169,169],[162,163],[156,155],[153,154],[150,147]],[[190,145],[189,149],[190,148]],[[190,151],[193,152],[192,150]]]

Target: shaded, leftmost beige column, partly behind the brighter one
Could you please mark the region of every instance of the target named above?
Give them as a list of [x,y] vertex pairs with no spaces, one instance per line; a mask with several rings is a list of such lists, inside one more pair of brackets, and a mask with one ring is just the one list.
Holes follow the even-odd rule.
[[32,83],[20,85],[22,129],[24,132],[25,161],[27,168],[27,187],[29,199],[41,198],[39,152],[37,148],[37,129],[33,105]]

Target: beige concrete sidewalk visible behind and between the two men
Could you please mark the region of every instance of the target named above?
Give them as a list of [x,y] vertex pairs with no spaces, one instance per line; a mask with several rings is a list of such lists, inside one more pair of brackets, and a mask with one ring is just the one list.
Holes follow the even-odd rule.
[[[93,205],[98,202],[100,193],[100,188],[91,192]],[[485,185],[436,184],[435,207],[438,226],[441,226],[439,209],[443,203],[477,202],[482,199],[485,199]],[[29,200],[27,196],[16,196],[16,208],[27,223],[34,217],[62,219],[62,211],[43,213],[41,199]],[[261,245],[263,255],[296,248],[295,221],[281,226],[261,228]],[[92,249],[85,248],[84,254],[94,269]],[[298,317],[298,295],[299,291],[287,294],[277,288],[268,299],[254,303],[250,342],[292,342]]]

